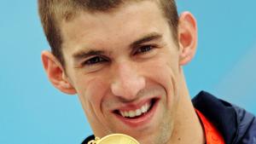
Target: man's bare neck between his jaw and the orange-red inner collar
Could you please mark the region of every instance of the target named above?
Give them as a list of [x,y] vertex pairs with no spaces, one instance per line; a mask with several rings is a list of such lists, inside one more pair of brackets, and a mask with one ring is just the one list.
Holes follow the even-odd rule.
[[204,144],[204,130],[190,100],[189,90],[182,76],[180,101],[177,104],[176,119],[171,140],[168,144]]

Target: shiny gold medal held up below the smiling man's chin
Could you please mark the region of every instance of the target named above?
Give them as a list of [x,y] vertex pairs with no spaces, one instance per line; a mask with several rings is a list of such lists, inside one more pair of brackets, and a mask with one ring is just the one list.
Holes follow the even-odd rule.
[[95,140],[89,141],[88,144],[139,144],[139,142],[129,135],[111,134],[101,139],[96,137]]

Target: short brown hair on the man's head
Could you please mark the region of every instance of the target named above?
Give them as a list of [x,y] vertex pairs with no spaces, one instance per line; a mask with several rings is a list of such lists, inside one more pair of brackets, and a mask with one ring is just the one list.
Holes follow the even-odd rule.
[[[133,0],[143,1],[143,0]],[[177,41],[178,15],[175,0],[154,0],[159,3],[166,20],[172,29],[174,40]],[[44,33],[53,55],[65,66],[61,51],[61,20],[72,20],[79,12],[108,12],[118,8],[128,0],[38,0],[39,15]],[[131,1],[130,1],[131,2]]]

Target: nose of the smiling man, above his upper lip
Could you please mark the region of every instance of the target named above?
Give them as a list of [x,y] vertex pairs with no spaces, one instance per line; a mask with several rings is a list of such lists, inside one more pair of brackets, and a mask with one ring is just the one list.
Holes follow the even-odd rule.
[[137,98],[138,92],[145,88],[145,83],[145,78],[140,76],[136,66],[123,62],[115,68],[111,90],[113,95],[125,101],[132,101]]

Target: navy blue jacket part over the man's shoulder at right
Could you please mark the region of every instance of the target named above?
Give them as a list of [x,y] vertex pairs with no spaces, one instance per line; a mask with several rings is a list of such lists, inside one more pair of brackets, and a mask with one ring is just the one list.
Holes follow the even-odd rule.
[[205,91],[192,101],[222,133],[226,143],[256,144],[256,118],[252,113]]

